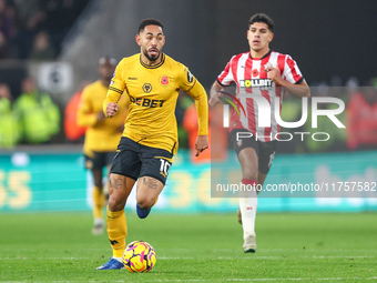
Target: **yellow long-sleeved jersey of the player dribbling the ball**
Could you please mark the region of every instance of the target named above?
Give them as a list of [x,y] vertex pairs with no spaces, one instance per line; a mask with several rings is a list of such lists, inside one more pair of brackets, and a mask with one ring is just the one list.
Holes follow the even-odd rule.
[[177,151],[175,105],[180,89],[194,100],[198,113],[198,134],[206,135],[208,127],[207,97],[203,85],[182,63],[162,54],[156,65],[146,65],[141,54],[124,58],[116,67],[103,103],[120,100],[123,91],[130,98],[123,137],[140,144]]

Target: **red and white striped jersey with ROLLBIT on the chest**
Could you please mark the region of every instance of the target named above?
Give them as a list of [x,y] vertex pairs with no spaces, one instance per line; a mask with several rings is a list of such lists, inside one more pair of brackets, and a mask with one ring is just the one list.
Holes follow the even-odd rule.
[[[258,141],[268,142],[275,140],[281,128],[275,119],[275,100],[281,99],[278,113],[282,110],[284,90],[267,79],[266,67],[273,65],[281,70],[282,78],[291,83],[300,83],[303,75],[291,55],[269,51],[263,58],[252,58],[249,52],[234,55],[226,64],[224,71],[217,77],[223,87],[232,82],[236,84],[236,98],[241,101],[246,115],[238,108],[238,112],[232,109],[230,131],[234,129],[248,129]],[[255,99],[262,95],[271,107],[271,125],[259,127],[258,111],[266,110],[258,107]],[[238,115],[240,113],[240,115]]]

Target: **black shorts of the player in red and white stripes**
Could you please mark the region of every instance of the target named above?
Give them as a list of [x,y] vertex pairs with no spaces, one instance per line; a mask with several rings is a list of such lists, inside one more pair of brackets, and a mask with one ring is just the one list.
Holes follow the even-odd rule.
[[256,155],[258,156],[258,171],[263,174],[267,174],[269,168],[273,163],[275,152],[276,152],[276,140],[271,142],[261,142],[256,141],[255,137],[238,139],[237,141],[237,132],[251,132],[246,129],[235,129],[230,134],[230,142],[234,149],[234,151],[240,153],[245,148],[252,148],[255,150]]

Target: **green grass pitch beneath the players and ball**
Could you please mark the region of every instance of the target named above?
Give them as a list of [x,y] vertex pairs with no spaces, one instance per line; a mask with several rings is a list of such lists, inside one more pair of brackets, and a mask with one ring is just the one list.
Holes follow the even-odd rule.
[[259,213],[256,254],[243,253],[235,213],[126,216],[128,242],[156,251],[150,273],[96,271],[111,249],[105,234],[91,234],[89,212],[0,214],[0,281],[377,281],[376,213]]

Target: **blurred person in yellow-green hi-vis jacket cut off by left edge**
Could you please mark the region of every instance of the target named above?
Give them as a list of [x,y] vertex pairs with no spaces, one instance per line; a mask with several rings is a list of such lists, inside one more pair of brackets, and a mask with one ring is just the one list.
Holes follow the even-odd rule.
[[0,83],[0,148],[12,148],[20,140],[19,121],[11,102],[10,88]]

